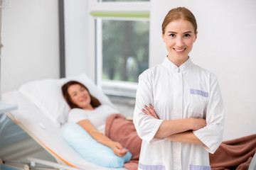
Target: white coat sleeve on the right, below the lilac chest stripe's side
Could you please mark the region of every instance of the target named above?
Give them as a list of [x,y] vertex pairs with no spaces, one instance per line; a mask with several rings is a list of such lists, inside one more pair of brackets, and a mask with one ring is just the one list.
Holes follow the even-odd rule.
[[193,133],[205,145],[204,148],[213,154],[223,140],[225,110],[217,78],[211,74],[210,95],[206,111],[206,127]]

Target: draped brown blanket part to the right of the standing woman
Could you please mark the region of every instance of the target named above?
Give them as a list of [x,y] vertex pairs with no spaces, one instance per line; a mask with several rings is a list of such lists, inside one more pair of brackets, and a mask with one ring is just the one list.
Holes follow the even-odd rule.
[[256,151],[256,134],[222,142],[214,154],[210,154],[213,170],[248,169]]

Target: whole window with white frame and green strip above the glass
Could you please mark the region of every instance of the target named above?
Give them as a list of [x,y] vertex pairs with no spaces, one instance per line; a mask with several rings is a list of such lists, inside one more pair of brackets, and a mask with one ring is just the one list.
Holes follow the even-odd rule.
[[[98,2],[100,8],[104,4]],[[139,74],[149,68],[149,12],[144,8],[132,11],[133,2],[106,4],[111,5],[112,11],[91,12],[95,17],[97,85],[105,94],[135,97]],[[125,10],[115,11],[118,6]]]

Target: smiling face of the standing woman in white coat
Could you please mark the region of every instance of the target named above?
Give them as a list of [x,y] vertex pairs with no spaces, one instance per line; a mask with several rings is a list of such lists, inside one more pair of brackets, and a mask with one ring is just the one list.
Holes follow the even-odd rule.
[[191,22],[179,19],[166,26],[162,38],[166,43],[169,60],[179,67],[188,60],[197,32],[195,33]]

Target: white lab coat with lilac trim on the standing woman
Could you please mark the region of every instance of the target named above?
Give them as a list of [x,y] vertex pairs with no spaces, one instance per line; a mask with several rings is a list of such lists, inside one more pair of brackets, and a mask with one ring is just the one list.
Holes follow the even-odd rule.
[[[160,120],[142,112],[154,106]],[[163,120],[205,118],[206,127],[193,133],[205,145],[154,139]],[[167,57],[162,64],[139,76],[134,125],[142,138],[139,169],[210,169],[209,153],[223,139],[224,108],[218,81],[212,73],[189,58],[176,67]]]

